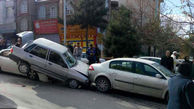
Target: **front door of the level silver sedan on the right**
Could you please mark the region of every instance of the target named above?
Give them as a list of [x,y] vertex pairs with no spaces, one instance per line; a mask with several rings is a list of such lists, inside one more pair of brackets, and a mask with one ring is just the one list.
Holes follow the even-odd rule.
[[[148,64],[135,62],[135,72],[138,76],[134,79],[136,93],[160,97],[162,95],[165,79],[155,68]],[[156,74],[161,75],[157,78]]]

